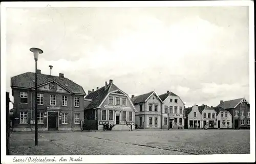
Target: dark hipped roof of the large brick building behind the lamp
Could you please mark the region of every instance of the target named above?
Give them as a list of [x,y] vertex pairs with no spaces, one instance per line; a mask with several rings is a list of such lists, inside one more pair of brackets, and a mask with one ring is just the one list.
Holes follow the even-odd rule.
[[[28,88],[31,89],[35,87],[35,73],[27,72],[24,74],[20,74],[14,77],[11,77],[11,87],[21,87],[21,88]],[[65,77],[58,77],[58,76],[51,76],[46,74],[37,74],[37,86],[55,81],[61,85],[61,87],[69,90],[72,93],[78,93],[82,95],[86,95],[83,88],[78,85],[77,83],[69,80]],[[67,84],[68,86],[66,86]]]

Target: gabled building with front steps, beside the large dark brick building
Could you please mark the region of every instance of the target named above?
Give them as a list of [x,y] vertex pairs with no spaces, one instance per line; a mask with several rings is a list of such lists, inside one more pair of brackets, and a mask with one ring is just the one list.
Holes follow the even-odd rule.
[[113,80],[96,90],[89,90],[84,98],[84,120],[88,126],[96,122],[91,129],[102,130],[103,124],[109,124],[112,130],[135,129],[135,107],[124,91]]

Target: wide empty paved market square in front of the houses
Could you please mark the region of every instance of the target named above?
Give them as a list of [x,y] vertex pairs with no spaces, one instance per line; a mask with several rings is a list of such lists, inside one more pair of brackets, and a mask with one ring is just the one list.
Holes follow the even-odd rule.
[[11,155],[178,155],[250,153],[249,130],[137,130],[14,133]]

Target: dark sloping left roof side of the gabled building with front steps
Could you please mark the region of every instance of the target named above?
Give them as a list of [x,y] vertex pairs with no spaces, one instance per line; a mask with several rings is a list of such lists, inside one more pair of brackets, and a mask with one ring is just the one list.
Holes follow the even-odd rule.
[[[98,107],[101,102],[104,100],[104,98],[108,95],[109,92],[118,90],[119,88],[111,83],[105,86],[99,88],[98,90],[95,90],[94,92],[89,93],[84,99],[91,99],[91,103],[86,107],[86,109],[93,109]],[[119,89],[120,90],[120,89]]]

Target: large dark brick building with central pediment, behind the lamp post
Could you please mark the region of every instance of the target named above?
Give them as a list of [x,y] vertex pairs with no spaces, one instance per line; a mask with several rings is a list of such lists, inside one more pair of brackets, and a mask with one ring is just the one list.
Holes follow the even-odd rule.
[[[35,73],[11,77],[14,131],[32,131],[35,124]],[[83,88],[65,78],[37,70],[37,123],[40,130],[80,130],[83,119]]]

